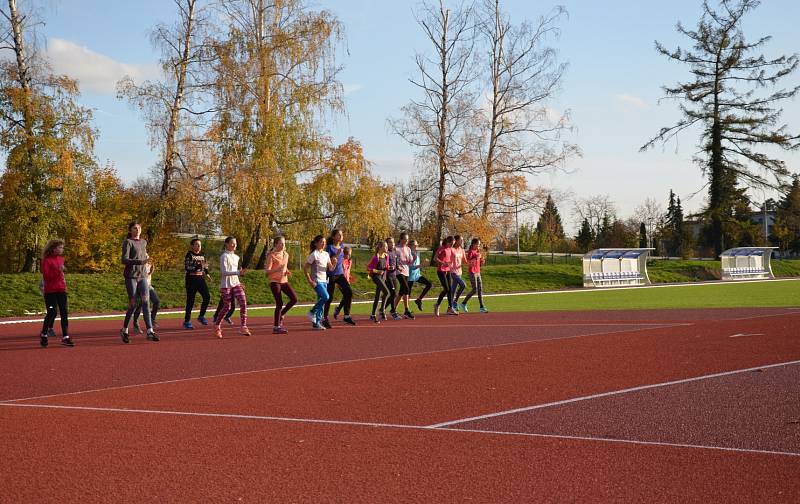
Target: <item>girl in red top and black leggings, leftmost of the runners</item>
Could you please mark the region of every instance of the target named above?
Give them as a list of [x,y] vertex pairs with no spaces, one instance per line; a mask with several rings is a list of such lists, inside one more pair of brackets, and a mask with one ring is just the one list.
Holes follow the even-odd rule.
[[50,240],[42,252],[42,292],[47,305],[47,315],[42,324],[39,344],[47,347],[48,336],[55,336],[53,324],[56,314],[61,313],[61,344],[75,346],[67,329],[67,282],[64,280],[64,240]]

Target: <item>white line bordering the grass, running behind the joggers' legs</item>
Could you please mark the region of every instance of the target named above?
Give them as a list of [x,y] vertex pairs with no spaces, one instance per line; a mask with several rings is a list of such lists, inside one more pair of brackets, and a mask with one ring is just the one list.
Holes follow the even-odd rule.
[[[797,282],[800,281],[798,278],[774,278],[770,280],[747,280],[747,281],[738,281],[736,284],[741,283],[764,283],[764,282]],[[604,287],[601,290],[598,289],[562,289],[562,290],[554,290],[554,291],[528,291],[528,292],[506,292],[506,293],[498,293],[498,294],[484,294],[483,297],[517,297],[517,296],[541,296],[547,294],[577,294],[581,292],[608,292],[608,291],[617,291],[617,290],[629,290],[629,289],[666,289],[671,287],[703,287],[705,285],[736,285],[732,284],[731,282],[725,281],[711,281],[711,282],[695,282],[695,283],[680,283],[680,284],[659,284],[659,285],[646,285],[646,286],[639,286],[639,287]],[[425,301],[431,302],[433,298],[425,298]],[[353,304],[371,304],[372,301],[353,301]],[[313,306],[313,303],[308,304],[296,304],[295,308],[310,308]],[[255,310],[273,310],[275,309],[275,305],[253,305],[248,306],[248,311],[255,311]],[[161,314],[166,315],[175,315],[184,313],[183,310],[164,310],[160,311]],[[200,313],[200,310],[192,310],[192,313]],[[42,313],[42,315],[44,315]],[[106,315],[79,315],[79,316],[71,316],[70,320],[92,320],[92,319],[122,319],[125,317],[124,313],[112,313]],[[745,319],[733,319],[733,320],[745,320]],[[41,324],[42,317],[35,318],[35,319],[21,319],[21,320],[0,320],[0,325],[9,325],[9,324]]]

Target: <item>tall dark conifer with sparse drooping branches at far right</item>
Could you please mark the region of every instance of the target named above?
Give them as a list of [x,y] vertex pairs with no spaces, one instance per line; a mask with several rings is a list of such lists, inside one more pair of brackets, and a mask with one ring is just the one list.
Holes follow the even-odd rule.
[[[796,149],[800,137],[779,124],[782,109],[776,105],[794,97],[800,86],[775,89],[783,77],[797,69],[798,56],[767,59],[759,51],[770,37],[747,42],[743,17],[759,5],[758,0],[721,0],[715,10],[703,2],[703,15],[695,30],[678,23],[677,30],[693,44],[692,49],[674,51],[656,42],[659,53],[687,65],[693,79],[665,87],[667,98],[681,102],[683,118],[664,127],[641,150],[675,138],[693,126],[701,128],[697,159],[708,177],[709,239],[716,254],[725,243],[725,223],[733,218],[740,198],[737,183],[777,187],[788,176],[782,160],[764,151],[767,147]],[[758,90],[769,90],[757,94]],[[735,241],[734,240],[727,240]]]

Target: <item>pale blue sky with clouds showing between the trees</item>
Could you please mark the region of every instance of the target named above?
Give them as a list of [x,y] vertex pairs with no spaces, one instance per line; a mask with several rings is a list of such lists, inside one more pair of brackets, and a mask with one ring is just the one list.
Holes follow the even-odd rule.
[[[584,156],[571,161],[568,171],[535,177],[535,185],[553,188],[573,197],[608,194],[620,217],[632,215],[646,197],[666,200],[672,188],[689,210],[698,209],[704,193],[692,196],[703,177],[690,161],[696,135],[685,134],[678,144],[639,153],[638,148],[661,126],[678,117],[672,103],[658,104],[660,87],[684,80],[686,68],[656,54],[653,42],[667,47],[686,45],[675,33],[678,20],[693,27],[700,0],[563,0],[559,3],[505,0],[513,19],[536,19],[555,5],[569,17],[561,23],[561,38],[554,42],[568,63],[562,90],[549,107],[570,110],[575,131],[571,139]],[[347,90],[347,116],[330,124],[337,141],[348,136],[360,140],[375,171],[385,180],[408,177],[413,171],[413,151],[386,127],[398,117],[400,107],[416,92],[408,82],[414,72],[414,54],[427,47],[412,15],[413,1],[328,0],[316,6],[335,13],[343,22],[348,53],[340,54],[345,69],[341,80]],[[137,80],[156,75],[158,54],[148,32],[158,22],[171,22],[172,2],[167,0],[48,0],[39,8],[46,25],[40,29],[48,54],[61,72],[79,79],[84,105],[96,109],[100,130],[97,155],[112,161],[120,176],[132,181],[145,175],[157,154],[147,143],[144,125],[136,111],[118,101],[116,78],[124,73]],[[800,2],[765,0],[749,15],[749,38],[771,34],[767,56],[800,51],[796,21]],[[800,84],[800,73],[784,82]],[[784,122],[800,131],[800,103],[785,106]],[[779,153],[794,172],[800,172],[800,154]],[[767,195],[769,196],[769,195]],[[761,200],[760,191],[754,199]],[[568,223],[571,204],[565,198],[561,211]]]

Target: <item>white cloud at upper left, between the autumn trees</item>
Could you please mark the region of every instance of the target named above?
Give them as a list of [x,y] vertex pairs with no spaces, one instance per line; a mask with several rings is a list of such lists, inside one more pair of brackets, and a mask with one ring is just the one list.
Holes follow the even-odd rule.
[[81,91],[114,94],[117,81],[125,75],[130,75],[139,83],[157,78],[161,74],[157,64],[121,63],[60,38],[48,40],[46,53],[53,71],[77,80]]

